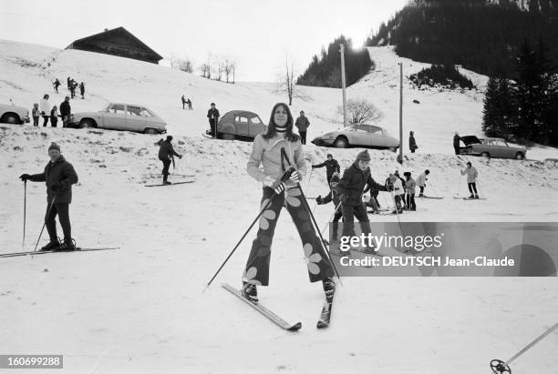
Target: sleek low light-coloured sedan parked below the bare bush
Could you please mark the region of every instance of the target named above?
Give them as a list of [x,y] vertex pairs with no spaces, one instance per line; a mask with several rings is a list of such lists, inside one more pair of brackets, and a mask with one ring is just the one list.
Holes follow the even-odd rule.
[[316,146],[322,147],[368,147],[377,149],[397,150],[399,141],[387,134],[386,129],[372,125],[351,125],[336,131],[325,133],[312,140]]

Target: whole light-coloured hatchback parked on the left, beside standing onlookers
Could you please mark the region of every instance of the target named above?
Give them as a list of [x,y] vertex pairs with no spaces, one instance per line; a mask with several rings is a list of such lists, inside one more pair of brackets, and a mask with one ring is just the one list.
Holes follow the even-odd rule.
[[100,112],[70,115],[68,127],[98,127],[110,130],[128,130],[145,134],[163,134],[167,125],[160,116],[145,106],[110,103]]

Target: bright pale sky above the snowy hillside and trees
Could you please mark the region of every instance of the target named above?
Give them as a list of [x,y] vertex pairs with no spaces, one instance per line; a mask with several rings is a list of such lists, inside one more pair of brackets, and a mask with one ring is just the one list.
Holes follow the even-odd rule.
[[[408,0],[0,0],[0,38],[65,48],[124,26],[160,56],[237,61],[237,80],[274,81],[285,56],[296,75],[338,35],[360,46]],[[195,72],[198,74],[198,71]]]

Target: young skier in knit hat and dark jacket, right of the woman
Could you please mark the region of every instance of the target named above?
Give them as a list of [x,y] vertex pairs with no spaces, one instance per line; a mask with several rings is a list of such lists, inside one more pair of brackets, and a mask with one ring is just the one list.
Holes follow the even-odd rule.
[[368,151],[362,151],[356,155],[356,160],[343,173],[343,177],[336,187],[336,193],[341,201],[341,209],[343,211],[343,236],[350,237],[355,235],[354,220],[355,217],[361,223],[363,234],[370,232],[369,219],[367,215],[367,207],[362,201],[362,194],[365,187],[386,191],[386,187],[382,186],[370,176],[370,155]]

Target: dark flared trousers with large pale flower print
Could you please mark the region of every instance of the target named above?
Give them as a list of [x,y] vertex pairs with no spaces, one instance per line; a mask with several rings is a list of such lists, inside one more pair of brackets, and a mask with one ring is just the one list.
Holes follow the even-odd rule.
[[[252,250],[246,262],[243,282],[261,286],[269,284],[271,247],[274,241],[275,225],[283,207],[286,207],[293,218],[294,226],[302,241],[310,282],[334,276],[331,263],[325,254],[324,243],[316,236],[310,214],[302,199],[301,190],[298,187],[288,189],[281,195],[275,195],[274,190],[270,187],[263,187],[260,209],[265,208],[265,210],[260,217],[260,228],[253,240]],[[270,200],[271,205],[267,207]]]

